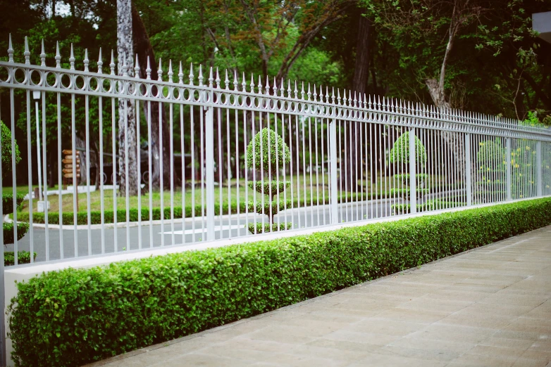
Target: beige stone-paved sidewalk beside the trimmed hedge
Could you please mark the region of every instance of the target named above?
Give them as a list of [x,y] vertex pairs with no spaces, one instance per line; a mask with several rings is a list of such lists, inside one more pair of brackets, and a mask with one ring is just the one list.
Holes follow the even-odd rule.
[[550,361],[548,226],[94,366],[547,366]]

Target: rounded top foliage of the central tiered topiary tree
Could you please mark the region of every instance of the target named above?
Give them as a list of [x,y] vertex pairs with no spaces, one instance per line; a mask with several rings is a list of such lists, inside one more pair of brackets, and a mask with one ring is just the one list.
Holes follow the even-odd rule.
[[275,174],[278,168],[291,160],[289,147],[276,131],[261,129],[247,146],[247,167]]

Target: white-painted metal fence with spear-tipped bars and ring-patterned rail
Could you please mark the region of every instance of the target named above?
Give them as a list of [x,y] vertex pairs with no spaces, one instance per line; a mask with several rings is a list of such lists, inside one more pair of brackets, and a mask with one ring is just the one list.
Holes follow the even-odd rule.
[[[28,155],[30,155],[30,136],[28,134],[30,134],[30,120],[32,119],[30,93],[36,91],[42,97],[42,108],[39,108],[37,101],[35,113],[37,122],[42,120],[42,127],[37,127],[37,141],[42,143],[42,145],[40,145],[41,143],[38,145],[37,153],[40,166],[37,177],[41,184],[44,182],[44,188],[47,188],[47,177],[51,177],[48,176],[48,166],[46,165],[47,154],[56,155],[55,151],[50,151],[44,144],[46,131],[52,129],[49,126],[45,108],[45,98],[49,94],[56,96],[53,101],[57,103],[57,121],[54,125],[54,128],[58,129],[57,160],[62,159],[62,148],[71,148],[73,159],[75,158],[76,134],[83,136],[86,143],[87,168],[85,174],[88,186],[82,192],[82,194],[86,194],[86,205],[80,205],[80,210],[81,212],[87,210],[86,225],[81,228],[87,230],[87,236],[83,236],[85,238],[82,239],[83,242],[87,241],[87,244],[81,244],[80,252],[86,248],[87,251],[79,254],[78,231],[74,231],[73,226],[66,226],[63,229],[63,200],[62,196],[58,195],[58,206],[61,210],[56,215],[58,215],[61,225],[59,229],[52,228],[50,224],[45,226],[48,237],[51,231],[60,231],[59,251],[57,252],[59,255],[55,256],[61,259],[78,255],[103,254],[110,251],[118,252],[123,247],[125,250],[139,249],[147,247],[147,243],[149,243],[149,247],[165,245],[165,236],[160,236],[160,238],[158,236],[159,233],[165,233],[165,221],[168,219],[165,218],[164,213],[166,205],[164,189],[167,190],[167,194],[170,190],[171,240],[169,243],[171,245],[247,236],[249,235],[246,228],[248,224],[268,224],[268,217],[249,210],[248,203],[253,202],[254,206],[264,203],[266,207],[270,207],[270,210],[273,209],[271,198],[268,199],[267,195],[262,195],[254,189],[251,191],[249,188],[251,181],[266,183],[270,177],[277,184],[287,181],[291,183],[289,188],[278,191],[274,198],[274,202],[290,200],[291,205],[285,210],[280,210],[274,218],[273,224],[281,226],[291,224],[292,228],[389,217],[398,213],[397,205],[407,204],[403,195],[405,191],[409,191],[411,213],[501,202],[521,197],[551,195],[551,189],[548,187],[551,184],[551,177],[550,174],[545,173],[547,172],[545,167],[551,159],[551,130],[544,127],[526,127],[513,120],[471,112],[443,110],[426,105],[413,105],[397,101],[395,98],[362,97],[356,94],[352,96],[352,91],[337,90],[336,96],[334,91],[330,96],[327,87],[323,93],[323,89],[320,87],[318,90],[318,86],[315,85],[311,89],[310,85],[301,84],[302,88],[299,91],[296,82],[295,89],[292,90],[290,81],[287,81],[287,93],[285,94],[284,80],[281,81],[278,89],[276,80],[273,81],[272,86],[269,84],[269,79],[266,80],[264,86],[260,79],[255,85],[254,77],[252,77],[251,84],[247,85],[243,75],[239,88],[235,72],[233,89],[230,89],[228,72],[226,72],[225,80],[222,83],[218,70],[216,70],[216,79],[213,77],[213,70],[210,70],[208,83],[203,84],[201,66],[199,66],[198,85],[194,84],[192,65],[189,82],[184,83],[183,81],[181,65],[178,81],[174,81],[171,63],[168,67],[168,81],[165,82],[162,78],[160,60],[159,78],[152,80],[149,60],[147,75],[142,79],[139,75],[137,62],[135,63],[134,77],[129,77],[128,73],[126,73],[127,75],[123,73],[122,76],[116,75],[113,56],[111,56],[109,64],[111,73],[104,74],[101,52],[97,63],[97,72],[88,70],[87,53],[84,58],[83,70],[82,68],[82,71],[76,70],[72,49],[69,69],[61,67],[61,54],[58,48],[56,49],[55,67],[47,66],[44,50],[40,54],[40,65],[30,63],[28,44],[25,44],[24,55],[25,63],[16,63],[13,59],[13,51],[9,51],[8,61],[0,62],[0,68],[4,68],[8,75],[7,79],[0,80],[0,86],[6,87],[10,91],[11,129],[15,127],[14,92],[16,89],[26,91],[26,101],[23,96],[20,103],[24,105],[23,110],[26,108],[27,111]],[[25,78],[17,79],[16,71],[23,72]],[[32,72],[39,73],[41,76],[39,82],[33,82],[33,79],[30,78]],[[49,84],[48,75],[54,76],[53,79],[56,80],[54,84]],[[50,77],[50,79],[52,78]],[[83,87],[75,84],[77,79],[84,82]],[[66,80],[70,82],[65,82]],[[154,94],[154,90],[161,91],[161,93]],[[343,97],[341,93],[344,95]],[[126,185],[137,184],[137,198],[130,198],[129,195],[126,195],[124,199],[120,198],[120,200],[125,200],[125,215],[121,211],[120,216],[117,217],[117,172],[120,172],[118,171],[120,169],[123,169],[123,172],[128,172],[128,154],[123,162],[117,162],[116,152],[120,143],[125,144],[128,150],[127,140],[130,138],[125,134],[125,141],[119,142],[116,139],[118,126],[115,124],[115,105],[118,104],[119,99],[134,101],[137,121],[136,139],[147,141],[148,147],[145,148],[147,157],[142,157],[140,149],[137,150],[138,162],[141,162],[142,158],[144,159],[144,166],[140,165],[137,168],[139,177],[137,182],[126,182]],[[82,109],[79,103],[84,104],[86,112],[82,119],[86,130],[84,132],[76,131],[80,125],[80,121],[78,121],[80,115],[77,115],[77,111]],[[103,125],[104,115],[109,115],[109,103],[111,103],[111,132],[109,132],[109,127]],[[152,126],[151,121],[152,105],[159,106],[159,142],[152,141],[152,132],[154,132],[152,129],[156,128]],[[71,111],[70,131],[62,131],[62,106],[70,108]],[[94,111],[96,108],[97,111]],[[142,127],[140,127],[140,115],[142,114],[140,108],[144,108],[142,111],[145,121]],[[176,119],[178,119],[178,111],[180,112],[179,128],[178,123],[173,121],[174,108],[176,108]],[[41,109],[42,119],[39,119],[39,110]],[[97,120],[92,116],[97,116]],[[101,233],[98,233],[98,236],[94,234],[92,214],[89,210],[93,206],[92,193],[89,188],[91,178],[89,170],[92,161],[90,154],[92,153],[92,139],[97,139],[97,136],[90,135],[88,131],[95,126],[94,124],[99,124],[99,179],[101,180],[99,183],[101,212],[99,224]],[[163,124],[166,124],[168,129],[163,129]],[[268,165],[276,165],[276,167],[271,167],[275,168],[273,176],[268,175],[261,167],[256,167],[256,164],[253,165],[254,167],[247,167],[245,163],[247,146],[254,139],[255,134],[263,128],[270,129],[269,134],[280,136],[290,149],[290,157],[280,157],[279,143],[276,143],[278,149],[276,149],[275,157],[271,150],[273,147],[265,144],[261,144],[260,152],[254,152],[261,155],[266,153]],[[39,131],[42,132],[42,137]],[[407,148],[411,153],[409,163],[403,160],[390,162],[390,150],[406,131],[410,132],[409,141],[407,141]],[[443,131],[448,134],[457,134],[455,136],[461,142],[460,145],[463,145],[464,162],[460,162],[457,157],[454,157],[452,148],[442,139]],[[165,134],[164,139],[163,134]],[[66,136],[70,136],[70,139],[66,139]],[[175,142],[174,139],[178,138],[180,142]],[[425,147],[426,162],[416,163],[416,157],[419,159],[422,154],[420,150],[416,149],[416,138]],[[63,139],[67,141],[63,141]],[[12,141],[13,143],[14,141]],[[489,144],[497,147],[495,149],[503,151],[503,154],[506,155],[504,159],[504,164],[507,165],[506,174],[502,162],[491,157],[490,150],[482,149],[481,144]],[[42,151],[40,151],[40,147],[42,147]],[[522,149],[523,154],[512,156],[512,153],[515,153],[518,148]],[[179,166],[174,154],[178,149],[181,151],[181,167],[175,167]],[[253,147],[253,149],[255,148]],[[109,150],[113,154],[112,207],[108,207],[104,195],[106,190],[103,181],[106,174],[104,154],[107,154],[105,150]],[[168,152],[169,158],[164,158],[166,162],[163,162],[163,152],[165,153],[164,157]],[[513,158],[514,164],[512,164],[512,157],[516,157]],[[285,162],[286,158],[290,158],[290,161]],[[151,178],[154,163],[157,164],[156,160],[159,160],[158,168],[161,172],[159,182],[156,183],[158,186],[153,186],[153,180],[149,179],[145,183],[148,187],[142,191],[140,185],[142,174],[144,177],[149,175]],[[544,162],[547,163],[544,165]],[[516,167],[517,164],[518,167]],[[28,176],[32,179],[32,166],[28,166]],[[482,172],[481,166],[485,172]],[[15,168],[14,157],[12,157],[12,167]],[[169,169],[170,172],[163,174],[165,169]],[[179,169],[182,172],[180,179],[184,184],[181,188],[181,200],[176,199],[180,190],[175,188],[175,178]],[[50,184],[61,183],[61,166],[57,173],[58,182],[50,182]],[[407,177],[404,176],[405,174],[409,174],[409,180],[404,179]],[[11,176],[14,183],[13,200],[15,205],[15,184],[17,182],[15,169],[11,172]],[[170,182],[165,182],[168,176],[170,176]],[[483,184],[483,179],[486,179],[488,184]],[[507,181],[506,185],[499,184],[499,181],[503,179]],[[28,188],[29,191],[32,191],[31,184],[28,185]],[[159,191],[157,191],[158,189]],[[425,193],[424,191],[427,190],[428,193]],[[78,197],[75,185],[73,185],[72,191],[73,222],[76,223],[78,221],[78,210],[76,209]],[[51,195],[45,189],[44,192],[45,195]],[[128,190],[126,192],[128,193]],[[143,195],[149,196],[149,205],[142,202]],[[160,210],[154,208],[154,200],[159,202]],[[270,200],[270,202],[266,202],[266,200]],[[426,205],[429,201],[431,205]],[[137,228],[133,228],[130,224],[130,202],[137,202],[137,212],[139,213]],[[149,223],[146,222],[146,226],[149,226],[149,239],[147,233],[144,234],[146,238],[142,238],[142,229],[144,229],[141,217],[142,205],[149,206]],[[178,205],[182,206],[181,216],[180,214],[176,215],[179,213],[176,210]],[[218,205],[218,209],[215,212],[216,205]],[[34,209],[32,201],[29,207],[31,210]],[[109,228],[110,225],[106,223],[107,213],[111,210],[113,211],[113,229]],[[200,216],[197,214],[199,212]],[[160,224],[154,223],[153,219],[159,219],[159,217]],[[44,222],[46,223],[47,218],[48,212],[45,212]],[[32,221],[32,216],[30,219]],[[118,226],[118,221],[121,219],[123,224]],[[13,221],[18,221],[17,212],[13,214]],[[179,229],[180,222],[182,228],[181,234],[178,234],[177,229]],[[156,227],[159,225],[160,231]],[[220,228],[220,230],[216,231],[215,228]],[[63,239],[67,242],[67,238],[63,237],[63,230],[73,231],[74,252],[63,252]],[[16,226],[13,231],[17,238]],[[124,246],[118,245],[118,231],[119,233],[123,231],[120,234],[121,238],[125,238]],[[132,234],[132,231],[137,231],[137,233]],[[25,246],[30,246],[30,250],[36,249],[35,235],[36,231],[31,228],[26,235],[30,236],[28,240],[25,239],[21,243],[16,240],[14,248],[21,250],[22,244],[25,243]],[[100,235],[101,245],[99,244]],[[94,245],[96,242],[97,247]],[[44,247],[41,247],[42,257],[39,257],[38,261],[49,259],[51,250],[53,251],[54,247],[57,248],[57,246],[50,247],[49,245],[48,239]],[[27,247],[24,248],[27,249]]]

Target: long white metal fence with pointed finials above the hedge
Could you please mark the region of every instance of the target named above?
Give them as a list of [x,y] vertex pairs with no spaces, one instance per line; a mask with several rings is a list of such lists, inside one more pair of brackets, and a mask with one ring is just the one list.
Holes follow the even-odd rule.
[[[169,63],[163,77],[161,60],[158,80],[149,72],[129,77],[125,67],[118,76],[113,56],[104,72],[101,51],[94,71],[87,53],[83,70],[76,70],[72,49],[69,69],[59,50],[55,64],[43,50],[41,65],[32,65],[28,50],[25,44],[17,63],[10,41],[8,61],[0,61],[0,87],[10,100],[0,118],[12,131],[1,144],[16,149],[18,126],[26,141],[17,143],[27,155],[17,164],[12,154],[11,169],[0,176],[12,183],[13,207],[17,193],[30,195],[20,210],[1,217],[30,223],[20,239],[13,226],[7,247],[37,252],[31,262],[551,195],[546,127],[212,68],[204,75],[201,66],[192,65],[185,77],[181,64],[175,74]],[[128,176],[132,169],[128,139],[134,136],[118,139],[119,103],[132,106],[123,118],[128,122],[132,111],[135,127],[124,129],[135,131],[140,146],[137,179],[125,181],[122,196],[117,185],[120,172]],[[251,143],[255,136],[258,144]],[[62,152],[72,150],[66,159],[75,162],[78,139],[85,141],[87,185],[62,191]],[[124,159],[117,162],[121,144]],[[260,159],[247,163],[249,145],[251,158]],[[23,178],[18,165],[27,165]],[[44,213],[32,199],[37,177],[44,188],[58,186],[43,190],[50,202]],[[132,188],[137,195],[129,195]]]

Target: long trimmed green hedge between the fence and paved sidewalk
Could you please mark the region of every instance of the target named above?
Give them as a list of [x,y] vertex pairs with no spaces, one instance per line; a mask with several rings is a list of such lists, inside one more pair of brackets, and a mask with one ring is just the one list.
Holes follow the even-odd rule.
[[65,269],[18,283],[16,366],[80,366],[551,224],[551,198]]

